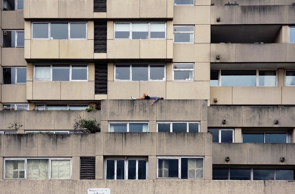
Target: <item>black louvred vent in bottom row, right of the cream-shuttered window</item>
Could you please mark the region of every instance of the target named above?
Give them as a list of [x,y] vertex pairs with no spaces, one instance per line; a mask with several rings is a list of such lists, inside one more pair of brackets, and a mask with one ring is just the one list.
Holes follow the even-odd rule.
[[80,179],[95,179],[95,157],[80,158]]

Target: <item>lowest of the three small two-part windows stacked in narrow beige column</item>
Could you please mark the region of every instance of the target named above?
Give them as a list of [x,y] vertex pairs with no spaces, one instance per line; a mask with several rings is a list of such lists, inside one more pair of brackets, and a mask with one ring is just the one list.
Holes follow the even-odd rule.
[[173,81],[194,80],[194,64],[173,63]]

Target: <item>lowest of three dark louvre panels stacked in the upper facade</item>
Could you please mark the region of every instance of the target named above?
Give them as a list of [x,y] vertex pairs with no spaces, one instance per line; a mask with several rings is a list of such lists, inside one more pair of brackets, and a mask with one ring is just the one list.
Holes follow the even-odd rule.
[[95,94],[108,94],[108,64],[95,64]]

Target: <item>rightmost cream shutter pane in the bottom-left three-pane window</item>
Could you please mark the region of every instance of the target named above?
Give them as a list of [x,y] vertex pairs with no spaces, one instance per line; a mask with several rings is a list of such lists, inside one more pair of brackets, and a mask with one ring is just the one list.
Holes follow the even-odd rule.
[[71,161],[52,160],[51,179],[71,179]]

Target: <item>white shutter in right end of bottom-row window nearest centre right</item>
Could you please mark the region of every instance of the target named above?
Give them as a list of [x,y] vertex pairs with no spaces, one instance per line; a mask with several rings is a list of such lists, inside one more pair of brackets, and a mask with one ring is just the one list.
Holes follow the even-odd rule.
[[203,179],[203,158],[188,158],[188,179]]

